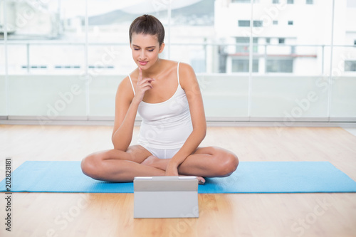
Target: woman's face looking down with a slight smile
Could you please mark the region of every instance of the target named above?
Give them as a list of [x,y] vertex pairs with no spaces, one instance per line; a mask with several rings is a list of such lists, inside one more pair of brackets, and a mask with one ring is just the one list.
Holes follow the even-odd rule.
[[142,33],[132,34],[132,58],[142,70],[146,70],[156,63],[158,55],[163,51],[163,48],[164,43],[159,47],[156,36]]

